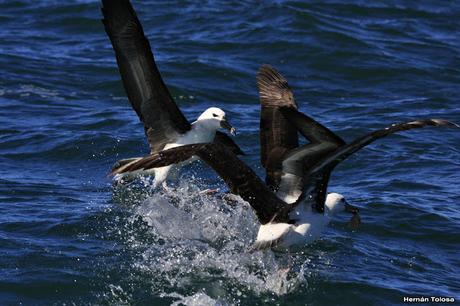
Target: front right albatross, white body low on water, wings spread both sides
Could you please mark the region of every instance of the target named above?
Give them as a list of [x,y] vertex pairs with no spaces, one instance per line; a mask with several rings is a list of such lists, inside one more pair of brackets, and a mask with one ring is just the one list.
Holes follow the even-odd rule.
[[[287,118],[292,119],[296,126],[301,127],[301,131],[316,129],[321,134],[322,129],[318,128],[319,123],[311,118],[292,108],[282,108],[281,111],[286,113]],[[340,161],[379,138],[425,126],[458,128],[454,123],[442,119],[423,119],[393,124],[358,138],[347,145],[342,145],[329,153],[324,153],[324,151],[321,154],[319,152],[322,149],[321,139],[323,138],[316,135],[317,143],[298,147],[294,149],[295,154],[288,153],[283,157],[284,160],[297,161],[282,163],[281,170],[280,185],[284,184],[285,173],[291,173],[297,177],[294,180],[291,178],[288,180],[288,183],[292,184],[289,186],[289,193],[296,196],[300,194],[297,201],[293,203],[280,199],[250,167],[228,147],[219,143],[192,144],[164,150],[130,164],[126,171],[164,167],[180,163],[196,155],[217,172],[232,193],[241,196],[253,208],[261,224],[254,249],[305,245],[319,237],[331,215],[340,211],[357,214],[357,209],[347,205],[341,195],[330,194],[324,200],[327,184],[319,182],[323,181],[325,173],[329,174]],[[328,143],[328,137],[325,139],[325,142]],[[312,164],[306,162],[310,160],[313,161]]]

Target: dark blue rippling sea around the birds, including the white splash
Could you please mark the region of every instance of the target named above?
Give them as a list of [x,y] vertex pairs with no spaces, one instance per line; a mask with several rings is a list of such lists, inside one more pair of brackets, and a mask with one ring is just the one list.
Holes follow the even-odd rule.
[[[133,1],[187,118],[227,111],[258,173],[255,75],[268,63],[346,140],[418,117],[460,123],[458,1]],[[198,190],[113,188],[143,155],[97,1],[0,0],[1,305],[397,305],[460,299],[460,132],[362,150],[330,191],[361,208],[297,254],[247,253],[257,223]],[[201,178],[201,179],[200,179]],[[286,275],[283,267],[293,268]]]

